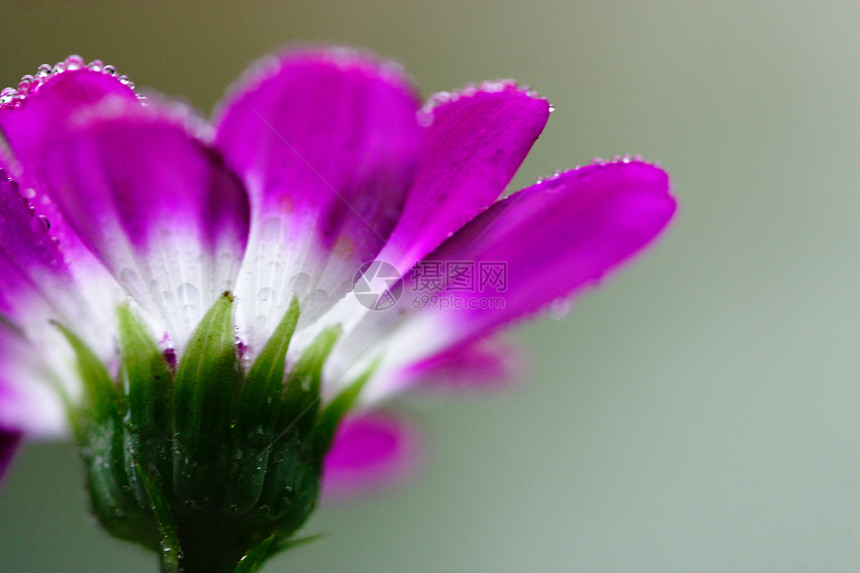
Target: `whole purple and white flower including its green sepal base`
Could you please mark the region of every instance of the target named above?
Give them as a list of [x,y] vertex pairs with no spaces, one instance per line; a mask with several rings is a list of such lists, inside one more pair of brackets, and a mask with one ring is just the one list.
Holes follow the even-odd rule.
[[[277,513],[260,502],[272,476],[327,451],[333,484],[397,467],[400,425],[361,412],[504,372],[502,328],[674,213],[666,174],[628,157],[497,200],[550,111],[511,81],[422,107],[398,67],[338,48],[259,64],[211,124],[77,56],[0,92],[0,470],[20,435],[71,419],[102,523],[135,539],[146,521],[170,548],[164,507],[182,532],[200,506]],[[273,462],[303,424],[296,440],[319,444]]]

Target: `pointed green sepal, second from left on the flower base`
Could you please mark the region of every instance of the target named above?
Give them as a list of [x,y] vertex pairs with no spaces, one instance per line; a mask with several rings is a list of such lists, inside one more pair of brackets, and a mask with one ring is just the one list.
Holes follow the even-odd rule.
[[140,483],[133,464],[154,472],[161,481],[169,482],[173,472],[173,375],[152,333],[131,309],[120,306],[117,315],[122,351],[120,379],[128,401],[126,471],[138,501],[145,503],[151,496]]

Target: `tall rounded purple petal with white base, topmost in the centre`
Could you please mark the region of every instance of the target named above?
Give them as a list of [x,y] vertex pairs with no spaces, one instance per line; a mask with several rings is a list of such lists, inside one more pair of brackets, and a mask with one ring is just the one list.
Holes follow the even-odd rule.
[[225,105],[217,144],[252,203],[237,292],[252,351],[293,294],[307,325],[379,252],[414,170],[417,109],[398,69],[348,50],[291,54]]

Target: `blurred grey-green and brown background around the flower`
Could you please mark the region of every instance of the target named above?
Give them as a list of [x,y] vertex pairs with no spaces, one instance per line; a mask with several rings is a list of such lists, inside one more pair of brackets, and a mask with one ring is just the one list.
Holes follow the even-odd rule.
[[[515,186],[659,161],[671,233],[564,320],[527,382],[409,399],[424,469],[328,506],[268,571],[860,570],[856,3],[3,2],[0,84],[70,53],[209,113],[253,59],[364,46],[422,93],[513,77],[556,107]],[[594,449],[592,449],[592,446]],[[0,495],[0,569],[151,572],[86,516],[67,445]]]

